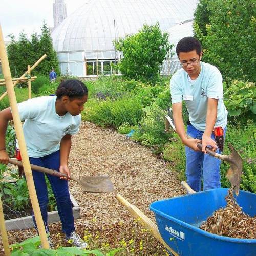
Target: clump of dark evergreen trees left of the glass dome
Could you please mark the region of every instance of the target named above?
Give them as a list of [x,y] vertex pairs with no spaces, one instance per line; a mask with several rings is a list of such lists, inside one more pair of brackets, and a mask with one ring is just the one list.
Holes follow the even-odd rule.
[[34,69],[33,73],[48,75],[52,67],[56,73],[59,73],[57,54],[53,49],[50,29],[45,22],[41,28],[41,35],[33,33],[31,40],[24,31],[20,32],[18,40],[15,40],[14,35],[10,35],[10,39],[7,53],[14,77],[26,72],[28,65],[33,65],[45,53],[47,58]]

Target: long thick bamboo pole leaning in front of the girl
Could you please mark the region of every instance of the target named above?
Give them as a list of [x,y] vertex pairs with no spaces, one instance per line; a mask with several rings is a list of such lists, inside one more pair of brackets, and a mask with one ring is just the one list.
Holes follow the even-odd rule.
[[20,146],[19,148],[20,153],[22,154],[22,163],[24,166],[24,173],[27,179],[29,195],[30,195],[31,204],[34,211],[34,215],[35,215],[38,232],[41,238],[42,247],[45,249],[49,249],[46,230],[45,230],[44,222],[42,221],[41,211],[40,211],[39,203],[36,197],[35,185],[33,181],[26,142],[25,142],[24,133],[22,129],[22,122],[20,121],[20,116],[18,113],[17,100],[16,100],[16,96],[15,96],[15,92],[12,84],[11,71],[10,71],[10,66],[9,66],[7,53],[5,49],[4,37],[3,37],[1,25],[0,25],[0,59],[2,61],[2,70],[3,70],[5,82],[6,82],[9,102],[11,105],[15,132],[17,135],[18,144]]

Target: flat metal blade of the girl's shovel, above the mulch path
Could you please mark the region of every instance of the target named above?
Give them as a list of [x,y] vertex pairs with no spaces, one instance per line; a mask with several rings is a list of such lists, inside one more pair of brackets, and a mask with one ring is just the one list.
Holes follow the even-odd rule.
[[80,176],[79,184],[83,192],[111,193],[114,191],[109,176]]

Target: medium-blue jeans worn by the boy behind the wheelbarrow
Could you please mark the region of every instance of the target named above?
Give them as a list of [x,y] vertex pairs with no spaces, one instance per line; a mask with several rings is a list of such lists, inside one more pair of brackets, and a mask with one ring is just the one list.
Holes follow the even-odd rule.
[[[187,134],[195,139],[202,139],[202,131],[197,130],[193,125],[187,125]],[[224,136],[226,128],[224,129]],[[211,138],[215,140],[214,133]],[[220,165],[221,160],[214,158],[200,151],[194,151],[190,147],[185,147],[186,151],[186,177],[187,184],[195,191],[201,190],[203,180],[203,190],[221,187]],[[219,148],[217,153],[221,153]]]

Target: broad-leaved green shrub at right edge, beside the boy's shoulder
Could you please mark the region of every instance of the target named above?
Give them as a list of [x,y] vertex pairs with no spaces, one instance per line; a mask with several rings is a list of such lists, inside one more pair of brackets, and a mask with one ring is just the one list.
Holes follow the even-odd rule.
[[[224,83],[224,88],[226,83]],[[230,117],[254,118],[256,114],[256,86],[253,82],[233,80],[224,93],[224,103]]]

